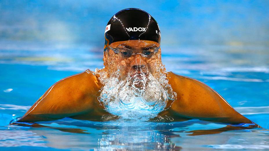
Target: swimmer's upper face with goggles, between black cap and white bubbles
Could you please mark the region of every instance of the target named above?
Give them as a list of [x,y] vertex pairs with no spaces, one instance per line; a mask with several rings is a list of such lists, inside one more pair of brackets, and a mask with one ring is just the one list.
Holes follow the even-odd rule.
[[150,72],[155,76],[158,62],[161,62],[160,45],[148,40],[114,42],[104,53],[104,65],[108,73],[119,72],[124,79],[136,73]]

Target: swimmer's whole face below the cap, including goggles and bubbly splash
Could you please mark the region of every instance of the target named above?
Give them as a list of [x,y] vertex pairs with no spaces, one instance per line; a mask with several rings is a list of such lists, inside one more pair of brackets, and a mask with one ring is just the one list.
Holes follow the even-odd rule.
[[175,100],[161,62],[160,45],[147,40],[114,42],[104,52],[105,69],[95,75],[103,85],[99,101],[113,115],[156,116]]

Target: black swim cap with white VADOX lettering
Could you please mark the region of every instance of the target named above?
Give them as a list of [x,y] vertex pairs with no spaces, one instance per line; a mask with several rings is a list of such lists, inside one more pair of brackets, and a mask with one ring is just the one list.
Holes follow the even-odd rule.
[[126,40],[150,40],[160,44],[159,25],[150,14],[141,9],[121,10],[108,21],[104,50],[111,43]]

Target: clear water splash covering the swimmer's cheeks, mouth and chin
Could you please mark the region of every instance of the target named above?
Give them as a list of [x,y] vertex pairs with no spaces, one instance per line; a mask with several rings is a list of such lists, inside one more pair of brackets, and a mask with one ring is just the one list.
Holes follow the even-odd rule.
[[175,100],[177,94],[168,84],[160,57],[157,54],[155,61],[135,70],[124,60],[111,57],[104,69],[96,69],[94,74],[103,84],[98,100],[106,111],[121,118],[148,120],[163,111],[169,100]]

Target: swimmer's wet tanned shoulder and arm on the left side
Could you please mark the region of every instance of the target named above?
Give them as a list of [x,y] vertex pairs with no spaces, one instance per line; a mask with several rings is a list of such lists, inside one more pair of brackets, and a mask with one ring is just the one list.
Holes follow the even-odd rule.
[[[90,70],[53,84],[17,122],[50,121],[89,113],[100,84]],[[99,104],[99,102],[98,102]]]

